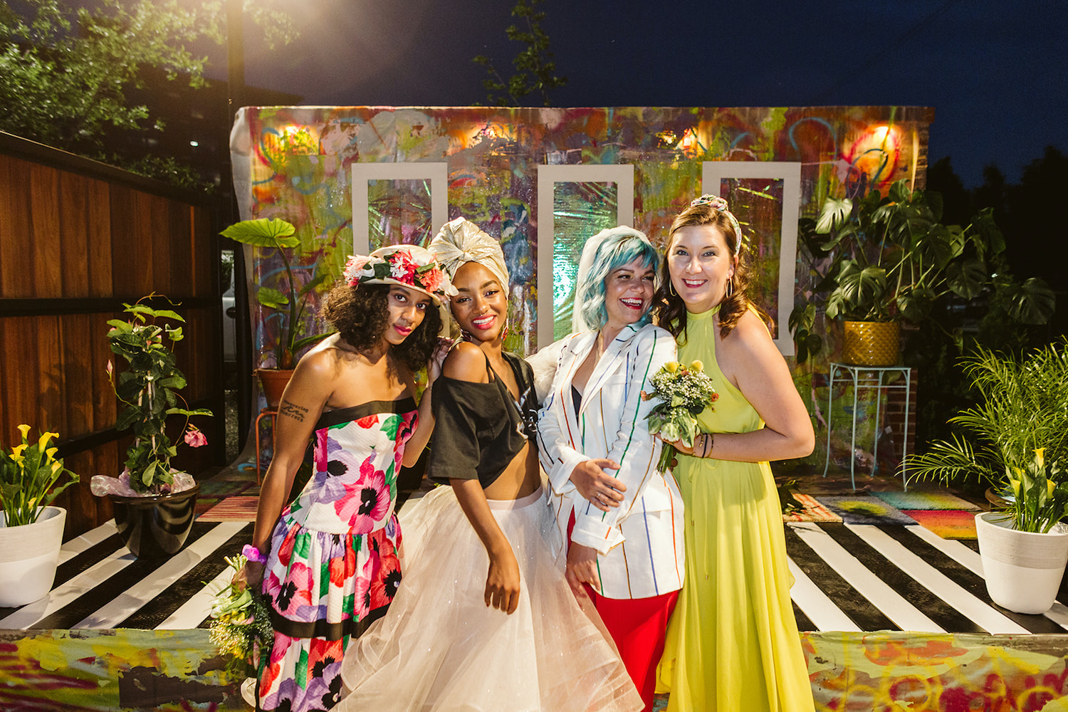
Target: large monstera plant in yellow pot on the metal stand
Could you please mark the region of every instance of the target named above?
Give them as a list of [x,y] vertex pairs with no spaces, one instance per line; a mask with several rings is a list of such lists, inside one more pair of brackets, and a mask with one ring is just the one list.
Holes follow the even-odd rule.
[[[898,180],[885,196],[873,190],[857,201],[829,197],[817,220],[799,222],[815,278],[789,318],[799,363],[822,350],[819,310],[845,321],[843,359],[873,366],[897,363],[899,323],[923,322],[947,295],[971,300],[996,289],[1009,297],[1014,319],[1049,319],[1054,298],[1043,282],[994,274],[1003,272],[994,268],[1005,241],[990,209],[964,227],[941,217],[941,195]],[[878,335],[883,346],[874,344]]]

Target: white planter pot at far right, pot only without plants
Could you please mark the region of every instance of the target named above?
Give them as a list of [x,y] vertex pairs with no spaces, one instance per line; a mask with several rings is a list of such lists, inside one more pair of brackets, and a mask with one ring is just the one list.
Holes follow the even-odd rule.
[[1056,600],[1068,563],[1068,529],[1049,534],[1017,532],[999,511],[975,516],[983,575],[990,599],[1016,613],[1042,614]]

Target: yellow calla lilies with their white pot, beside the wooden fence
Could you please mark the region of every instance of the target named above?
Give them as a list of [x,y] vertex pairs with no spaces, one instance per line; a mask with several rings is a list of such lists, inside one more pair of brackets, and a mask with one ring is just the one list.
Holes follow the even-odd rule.
[[50,505],[78,481],[49,447],[59,433],[46,430],[33,442],[30,426],[18,430],[21,444],[0,447],[0,606],[26,605],[51,590],[66,509]]

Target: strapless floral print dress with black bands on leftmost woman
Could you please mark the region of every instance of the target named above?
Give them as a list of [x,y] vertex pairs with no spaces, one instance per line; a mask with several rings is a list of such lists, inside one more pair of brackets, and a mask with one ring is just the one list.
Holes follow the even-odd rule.
[[400,527],[393,511],[414,399],[329,411],[314,434],[315,474],[271,535],[264,594],[274,647],[257,709],[328,710],[341,695],[341,662],[386,614],[400,583]]

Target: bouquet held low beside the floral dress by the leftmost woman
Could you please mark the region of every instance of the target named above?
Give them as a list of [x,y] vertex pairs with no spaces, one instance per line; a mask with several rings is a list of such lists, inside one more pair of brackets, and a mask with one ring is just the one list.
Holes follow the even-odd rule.
[[[234,574],[245,568],[248,559],[238,554],[227,556],[226,564]],[[270,624],[267,602],[260,594],[240,589],[233,582],[220,588],[211,603],[208,637],[244,675],[255,675],[261,654],[269,654],[274,645],[274,629]]]

